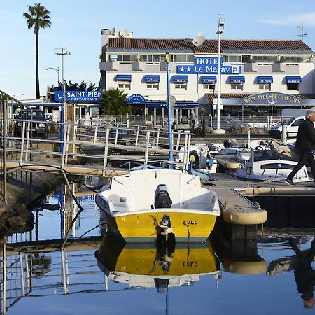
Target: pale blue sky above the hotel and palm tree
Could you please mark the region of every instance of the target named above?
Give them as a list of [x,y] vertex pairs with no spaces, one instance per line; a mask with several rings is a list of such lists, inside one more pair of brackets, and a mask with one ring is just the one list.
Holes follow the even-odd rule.
[[41,3],[50,11],[50,29],[39,33],[41,95],[57,85],[61,57],[64,79],[99,84],[101,29],[127,29],[134,38],[217,38],[218,12],[225,22],[222,39],[299,39],[315,51],[314,0],[0,0],[0,90],[16,99],[34,99],[35,35],[23,13]]

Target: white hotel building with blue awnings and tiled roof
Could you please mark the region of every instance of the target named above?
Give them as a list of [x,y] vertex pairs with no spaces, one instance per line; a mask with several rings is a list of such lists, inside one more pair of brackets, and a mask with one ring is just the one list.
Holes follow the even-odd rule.
[[[165,56],[169,53],[175,109],[216,113],[217,80],[199,73],[195,57],[218,57],[218,40],[200,47],[185,39],[134,38],[132,32],[102,29],[101,88],[141,94],[146,106],[134,113],[164,114],[167,100]],[[221,115],[272,115],[283,106],[315,105],[314,52],[301,40],[221,40]],[[216,59],[218,60],[218,59]],[[235,75],[228,71],[236,66]],[[208,68],[209,69],[209,68]],[[192,71],[195,73],[192,73]],[[165,111],[167,113],[167,111]]]

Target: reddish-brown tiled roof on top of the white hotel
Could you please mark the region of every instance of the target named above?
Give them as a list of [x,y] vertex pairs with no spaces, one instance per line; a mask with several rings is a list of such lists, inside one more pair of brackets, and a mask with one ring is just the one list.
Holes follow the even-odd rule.
[[[218,40],[207,39],[200,47],[183,39],[109,38],[108,48],[195,50],[197,53],[218,52]],[[222,39],[221,50],[311,50],[301,40],[277,39]]]

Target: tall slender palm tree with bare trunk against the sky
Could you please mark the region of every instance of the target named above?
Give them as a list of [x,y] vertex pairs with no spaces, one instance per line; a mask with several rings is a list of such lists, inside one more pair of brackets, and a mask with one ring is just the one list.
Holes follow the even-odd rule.
[[50,12],[44,7],[41,6],[41,3],[35,3],[34,6],[28,6],[29,12],[23,13],[23,16],[27,19],[27,27],[31,29],[34,27],[35,33],[35,65],[36,65],[36,98],[41,97],[39,92],[39,73],[38,73],[38,37],[39,29],[45,27],[50,27]]

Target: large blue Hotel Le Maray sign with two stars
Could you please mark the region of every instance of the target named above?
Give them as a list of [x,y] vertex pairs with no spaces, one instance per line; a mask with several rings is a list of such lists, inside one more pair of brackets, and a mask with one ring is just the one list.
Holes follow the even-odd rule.
[[[177,73],[181,74],[218,74],[218,57],[195,57],[194,65],[182,64],[177,66]],[[221,74],[239,74],[241,66],[228,66],[220,58]]]

